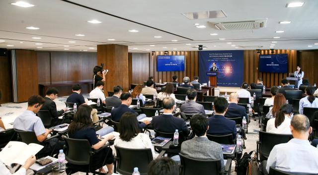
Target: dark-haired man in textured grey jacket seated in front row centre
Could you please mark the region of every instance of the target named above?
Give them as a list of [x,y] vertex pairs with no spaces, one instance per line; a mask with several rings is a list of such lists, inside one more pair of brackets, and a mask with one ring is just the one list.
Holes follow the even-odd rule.
[[194,159],[220,159],[221,170],[224,171],[222,146],[207,137],[209,129],[208,118],[204,115],[194,115],[190,120],[194,138],[181,144],[181,154]]

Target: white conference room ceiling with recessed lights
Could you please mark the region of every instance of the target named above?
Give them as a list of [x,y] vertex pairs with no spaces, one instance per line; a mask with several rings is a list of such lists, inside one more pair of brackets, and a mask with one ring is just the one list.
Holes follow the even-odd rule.
[[[198,45],[205,50],[318,49],[318,0],[298,0],[304,5],[293,8],[286,5],[294,0],[23,0],[34,5],[27,8],[11,4],[16,1],[0,0],[0,48],[96,52],[97,45],[121,44],[129,52],[197,51]],[[226,17],[191,20],[182,15],[213,10]],[[218,30],[212,24],[250,20],[265,20],[266,26]],[[30,26],[39,29],[26,29]]]

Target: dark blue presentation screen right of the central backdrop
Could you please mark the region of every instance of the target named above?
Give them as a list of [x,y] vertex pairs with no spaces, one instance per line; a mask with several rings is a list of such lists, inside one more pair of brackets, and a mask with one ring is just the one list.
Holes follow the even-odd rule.
[[259,71],[287,73],[287,54],[259,55]]

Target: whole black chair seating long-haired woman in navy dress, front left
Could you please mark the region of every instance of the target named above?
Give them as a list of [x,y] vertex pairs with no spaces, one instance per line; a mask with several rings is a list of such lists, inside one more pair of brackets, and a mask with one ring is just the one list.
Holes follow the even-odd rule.
[[77,172],[84,172],[86,175],[88,175],[88,173],[93,173],[94,175],[103,175],[102,173],[96,171],[100,167],[103,167],[103,165],[96,165],[95,161],[93,160],[93,155],[104,151],[104,149],[109,146],[108,144],[104,145],[98,150],[93,150],[86,139],[73,139],[65,137],[65,141],[65,159],[68,161],[66,173],[68,175]]

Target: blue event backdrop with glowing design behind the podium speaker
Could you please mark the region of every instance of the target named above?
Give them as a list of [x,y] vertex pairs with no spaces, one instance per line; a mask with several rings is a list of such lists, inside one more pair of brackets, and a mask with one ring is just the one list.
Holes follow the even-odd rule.
[[216,63],[218,86],[240,87],[243,82],[243,51],[199,51],[199,82],[207,83],[206,72]]

